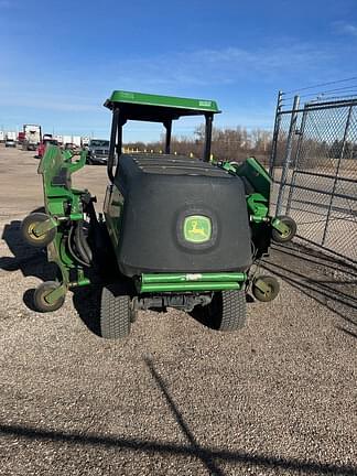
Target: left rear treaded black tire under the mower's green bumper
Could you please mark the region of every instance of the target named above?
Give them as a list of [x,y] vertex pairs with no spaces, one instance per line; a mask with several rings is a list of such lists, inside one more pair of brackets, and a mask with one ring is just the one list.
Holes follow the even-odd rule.
[[128,294],[118,285],[107,285],[101,291],[100,335],[108,339],[130,334],[132,306]]

